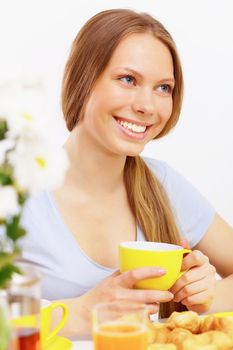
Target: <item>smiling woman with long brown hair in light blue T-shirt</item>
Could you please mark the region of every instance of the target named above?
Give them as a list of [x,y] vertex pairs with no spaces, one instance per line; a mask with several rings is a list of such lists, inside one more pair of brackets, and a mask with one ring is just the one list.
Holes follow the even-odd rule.
[[[176,125],[182,91],[175,44],[148,14],[103,11],[73,42],[62,87],[70,168],[55,193],[29,202],[22,243],[24,259],[44,272],[43,297],[65,299],[69,334],[88,331],[100,301],[140,301],[151,312],[160,306],[163,317],[182,307],[233,309],[232,228],[166,163],[139,156]],[[189,243],[188,271],[170,291],[133,289],[166,273],[120,274],[118,245],[133,240]]]

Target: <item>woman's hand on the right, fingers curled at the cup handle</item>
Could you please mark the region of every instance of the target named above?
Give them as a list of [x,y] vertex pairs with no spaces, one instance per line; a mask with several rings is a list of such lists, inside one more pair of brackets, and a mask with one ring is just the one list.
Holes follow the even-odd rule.
[[194,250],[184,257],[182,271],[186,272],[170,289],[173,300],[198,313],[208,311],[215,294],[215,267],[206,255]]

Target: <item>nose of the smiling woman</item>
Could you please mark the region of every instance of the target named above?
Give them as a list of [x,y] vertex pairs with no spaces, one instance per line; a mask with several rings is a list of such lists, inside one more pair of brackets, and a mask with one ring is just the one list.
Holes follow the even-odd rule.
[[138,90],[132,104],[134,112],[145,116],[153,115],[155,110],[154,99],[153,91],[147,89]]

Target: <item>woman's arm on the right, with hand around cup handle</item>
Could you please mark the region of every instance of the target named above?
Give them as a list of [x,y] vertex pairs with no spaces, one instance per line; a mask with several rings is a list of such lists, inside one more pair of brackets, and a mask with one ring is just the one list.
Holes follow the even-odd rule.
[[[190,254],[171,288],[174,301],[199,313],[233,310],[233,229],[218,215]],[[223,278],[216,281],[215,271]]]

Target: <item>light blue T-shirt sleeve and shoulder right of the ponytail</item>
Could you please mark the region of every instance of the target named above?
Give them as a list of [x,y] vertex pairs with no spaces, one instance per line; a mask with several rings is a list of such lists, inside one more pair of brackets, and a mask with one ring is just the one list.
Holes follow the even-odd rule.
[[213,221],[215,209],[209,201],[179,172],[167,163],[145,159],[164,186],[181,236],[194,247]]

